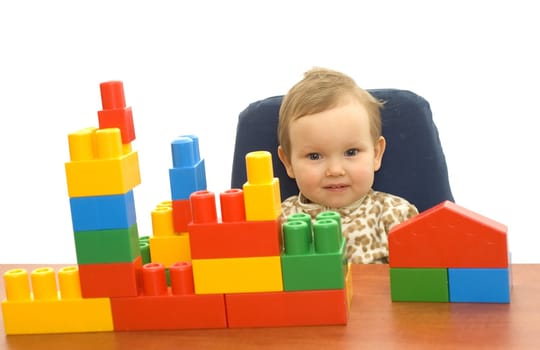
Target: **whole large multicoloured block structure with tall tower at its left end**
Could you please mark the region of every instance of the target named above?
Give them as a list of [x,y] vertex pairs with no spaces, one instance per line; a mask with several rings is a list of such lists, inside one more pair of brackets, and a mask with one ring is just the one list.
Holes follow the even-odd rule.
[[174,139],[171,198],[152,210],[152,235],[139,237],[131,108],[121,82],[100,87],[100,127],[68,135],[78,265],[6,272],[6,334],[347,323],[352,280],[339,215],[282,225],[269,152],[246,155],[247,182],[220,193],[218,215],[197,137]]

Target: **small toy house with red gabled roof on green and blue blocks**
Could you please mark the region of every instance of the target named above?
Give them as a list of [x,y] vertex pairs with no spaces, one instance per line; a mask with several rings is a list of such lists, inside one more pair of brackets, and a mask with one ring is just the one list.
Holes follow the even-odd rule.
[[389,234],[393,301],[509,303],[507,227],[445,201]]

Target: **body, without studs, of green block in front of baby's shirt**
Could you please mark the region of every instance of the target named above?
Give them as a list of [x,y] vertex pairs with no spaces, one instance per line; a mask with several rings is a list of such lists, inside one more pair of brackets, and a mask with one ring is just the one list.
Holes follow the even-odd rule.
[[282,254],[283,290],[321,290],[345,288],[347,257],[345,240],[335,253]]

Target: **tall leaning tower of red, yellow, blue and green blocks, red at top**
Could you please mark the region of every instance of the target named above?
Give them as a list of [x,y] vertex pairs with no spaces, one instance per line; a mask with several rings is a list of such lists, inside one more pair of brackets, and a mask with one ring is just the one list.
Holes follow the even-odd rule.
[[141,182],[132,150],[133,116],[123,83],[100,84],[99,128],[68,135],[65,164],[81,292],[85,298],[137,295],[142,266],[133,189]]

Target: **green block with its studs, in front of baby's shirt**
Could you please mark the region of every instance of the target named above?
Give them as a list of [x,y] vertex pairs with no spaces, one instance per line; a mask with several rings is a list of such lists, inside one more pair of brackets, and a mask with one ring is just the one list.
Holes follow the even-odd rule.
[[345,287],[348,264],[345,240],[338,224],[341,220],[339,214],[337,217],[338,220],[323,217],[309,225],[295,216],[283,224],[285,250],[281,264],[284,290]]

